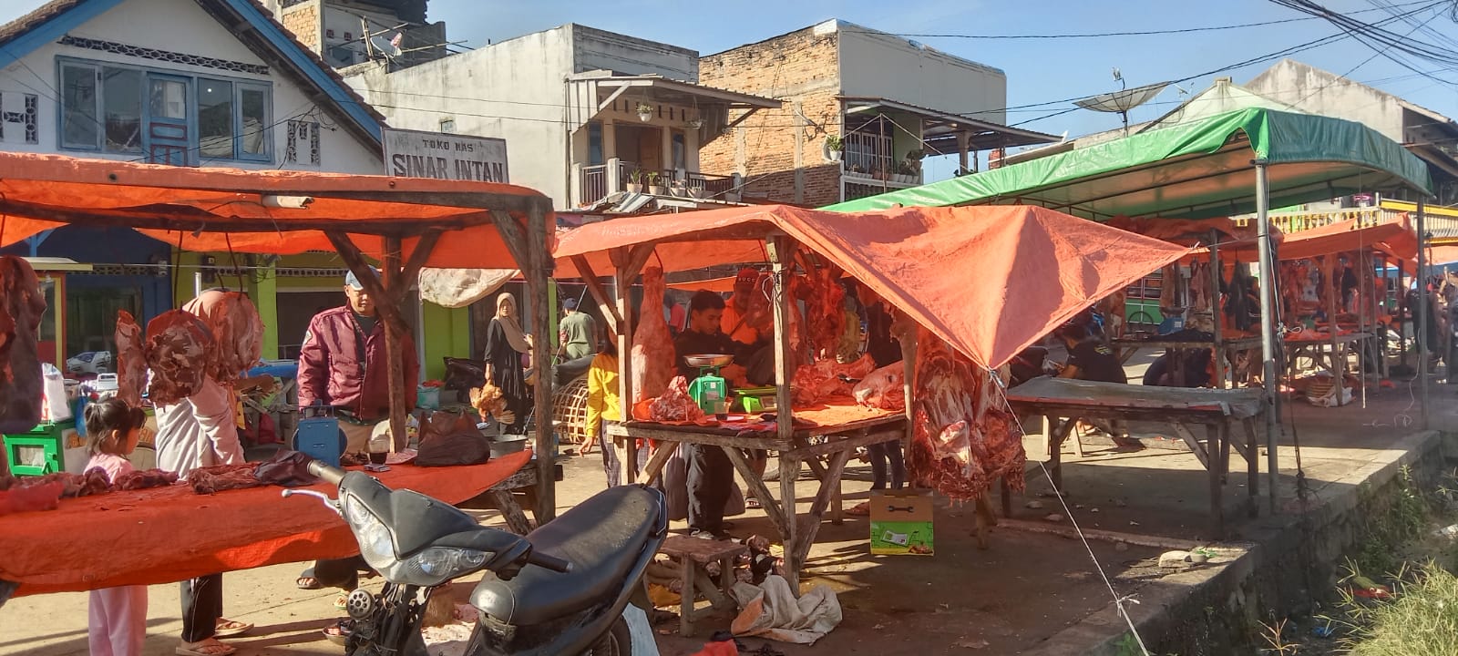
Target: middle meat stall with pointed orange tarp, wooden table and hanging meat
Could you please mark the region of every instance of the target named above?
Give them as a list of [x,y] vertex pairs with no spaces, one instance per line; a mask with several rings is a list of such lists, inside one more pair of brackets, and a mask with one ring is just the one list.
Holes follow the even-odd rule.
[[[658,478],[679,443],[723,449],[779,532],[784,571],[798,583],[822,519],[838,519],[840,481],[857,446],[905,442],[913,485],[975,503],[983,528],[994,522],[990,488],[999,480],[1021,488],[1025,462],[997,367],[1187,252],[1040,207],[844,214],[764,206],[585,224],[561,235],[555,257],[588,284],[625,354],[620,392],[633,417],[608,434],[630,449],[636,440],[658,445],[637,480]],[[655,290],[662,293],[666,273],[741,264],[771,271],[764,292],[779,410],[706,417],[687,398],[687,380],[674,379],[674,344],[659,325]],[[643,327],[631,325],[625,296],[608,296],[605,276],[620,290],[643,277]],[[900,364],[873,372],[831,357],[843,280],[889,306]],[[841,375],[879,380],[879,389],[857,401]],[[777,497],[741,449],[779,452]],[[631,468],[634,458],[625,462]],[[796,503],[802,464],[818,478],[805,520]]]

